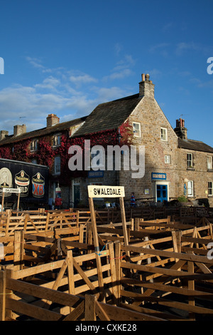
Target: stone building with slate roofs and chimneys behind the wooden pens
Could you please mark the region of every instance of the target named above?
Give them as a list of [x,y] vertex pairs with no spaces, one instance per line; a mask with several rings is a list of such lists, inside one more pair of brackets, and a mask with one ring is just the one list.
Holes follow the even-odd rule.
[[[176,120],[176,127],[173,129],[155,100],[155,86],[148,74],[142,74],[138,93],[102,103],[84,118],[60,123],[57,115],[52,114],[48,115],[47,127],[42,130],[26,133],[24,125],[16,126],[14,134],[10,136],[5,130],[1,130],[0,154],[3,157],[6,155],[4,149],[10,145],[12,150],[15,143],[24,140],[29,140],[31,150],[36,151],[40,138],[47,136],[51,136],[53,148],[57,148],[62,135],[71,140],[89,140],[95,134],[99,143],[98,139],[102,134],[110,131],[111,134],[116,134],[119,144],[120,130],[126,123],[131,125],[132,141],[131,146],[120,150],[120,170],[115,167],[113,170],[107,169],[109,157],[103,153],[100,155],[99,148],[96,148],[92,155],[93,158],[99,158],[96,165],[99,170],[90,168],[83,176],[68,171],[66,177],[70,182],[66,184],[62,182],[63,176],[59,177],[59,154],[55,156],[53,168],[50,170],[50,196],[54,197],[55,187],[60,182],[64,203],[71,200],[75,205],[77,202],[87,205],[87,185],[123,185],[126,200],[134,192],[136,199],[142,202],[170,201],[184,195],[190,200],[208,200],[209,205],[213,205],[213,148],[200,141],[187,139],[187,128],[182,119]],[[134,156],[131,148],[135,148],[137,152],[137,163],[132,168]],[[115,159],[115,154],[113,157]],[[130,168],[125,169],[124,161],[127,158]],[[136,167],[139,166],[143,174],[141,177],[133,177],[133,173],[137,172]]]

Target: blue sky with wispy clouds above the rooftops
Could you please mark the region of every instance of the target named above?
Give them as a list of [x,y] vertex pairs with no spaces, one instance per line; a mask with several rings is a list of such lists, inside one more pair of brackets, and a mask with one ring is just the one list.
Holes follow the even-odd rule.
[[2,0],[0,11],[0,130],[87,115],[149,73],[173,128],[185,118],[188,138],[213,146],[212,0]]

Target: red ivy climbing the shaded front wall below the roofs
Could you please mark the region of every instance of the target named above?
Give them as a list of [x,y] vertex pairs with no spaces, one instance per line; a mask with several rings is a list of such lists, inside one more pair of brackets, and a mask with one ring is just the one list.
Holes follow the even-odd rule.
[[121,125],[119,130],[104,130],[77,138],[69,138],[68,135],[63,134],[61,136],[60,146],[58,147],[53,147],[52,138],[50,136],[39,138],[38,150],[36,151],[31,151],[31,140],[24,140],[23,142],[15,143],[13,144],[13,148],[11,148],[10,145],[6,145],[5,147],[0,147],[0,158],[20,160],[23,162],[37,160],[38,164],[48,166],[51,172],[55,157],[60,156],[61,173],[57,178],[61,184],[67,184],[67,182],[70,182],[71,176],[85,177],[87,175],[87,171],[73,172],[69,170],[68,161],[70,159],[70,155],[68,154],[68,150],[71,145],[79,145],[80,148],[82,148],[84,157],[84,140],[90,140],[91,148],[94,145],[102,145],[104,148],[107,148],[107,145],[130,145],[132,138],[133,130],[129,124],[129,120],[127,120],[126,123]]

